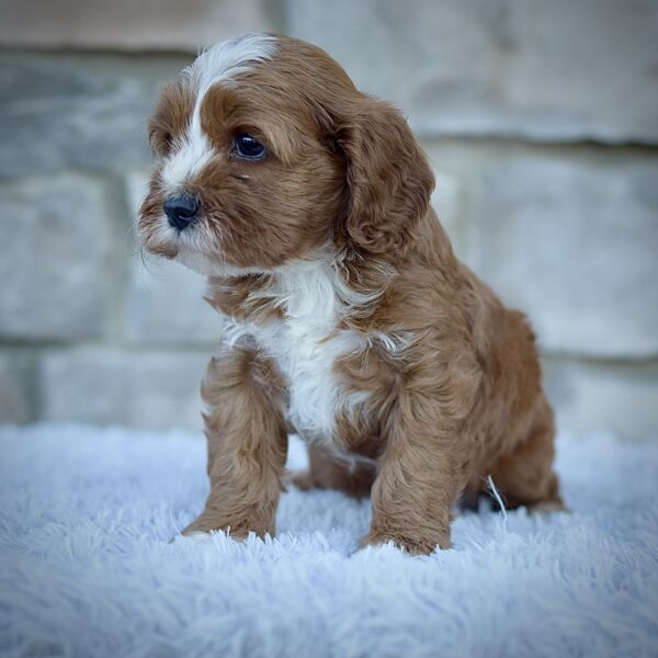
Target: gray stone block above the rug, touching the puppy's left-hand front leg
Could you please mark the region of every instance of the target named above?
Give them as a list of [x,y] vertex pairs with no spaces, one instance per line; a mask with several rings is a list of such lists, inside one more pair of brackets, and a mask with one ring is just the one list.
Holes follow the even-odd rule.
[[201,428],[203,352],[113,348],[43,355],[42,418],[136,428]]

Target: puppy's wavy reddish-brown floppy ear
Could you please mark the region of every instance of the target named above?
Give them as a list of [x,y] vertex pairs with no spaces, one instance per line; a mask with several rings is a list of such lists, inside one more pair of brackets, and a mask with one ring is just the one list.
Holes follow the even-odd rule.
[[401,113],[363,95],[341,112],[333,139],[347,166],[343,231],[371,253],[404,252],[428,212],[434,175]]

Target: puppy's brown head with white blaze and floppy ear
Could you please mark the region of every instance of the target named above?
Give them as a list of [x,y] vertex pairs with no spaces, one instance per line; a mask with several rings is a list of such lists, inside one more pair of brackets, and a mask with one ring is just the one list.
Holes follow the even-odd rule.
[[246,35],[161,92],[144,247],[204,274],[268,272],[318,249],[402,252],[433,177],[405,118],[326,53]]

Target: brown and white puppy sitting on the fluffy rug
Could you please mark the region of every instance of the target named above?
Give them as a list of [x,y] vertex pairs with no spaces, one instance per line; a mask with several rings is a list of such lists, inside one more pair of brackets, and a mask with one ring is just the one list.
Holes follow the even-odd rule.
[[299,486],[372,495],[362,545],[450,546],[451,506],[489,475],[509,507],[561,508],[533,333],[456,260],[397,110],[319,48],[252,34],[164,88],[150,140],[141,242],[229,318],[185,532],[274,533],[288,431]]

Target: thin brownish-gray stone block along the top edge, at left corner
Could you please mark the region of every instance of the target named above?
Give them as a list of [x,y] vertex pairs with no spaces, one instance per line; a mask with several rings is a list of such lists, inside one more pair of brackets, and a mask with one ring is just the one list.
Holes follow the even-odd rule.
[[243,32],[281,31],[279,3],[266,0],[3,1],[3,46],[186,49]]

